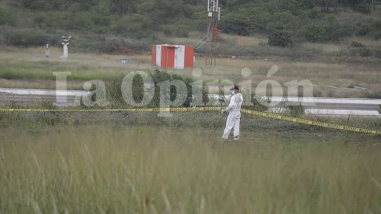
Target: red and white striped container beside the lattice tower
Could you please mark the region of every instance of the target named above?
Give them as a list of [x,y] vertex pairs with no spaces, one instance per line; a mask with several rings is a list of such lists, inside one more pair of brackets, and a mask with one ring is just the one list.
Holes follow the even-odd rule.
[[160,68],[193,68],[194,48],[185,45],[153,45],[152,64]]

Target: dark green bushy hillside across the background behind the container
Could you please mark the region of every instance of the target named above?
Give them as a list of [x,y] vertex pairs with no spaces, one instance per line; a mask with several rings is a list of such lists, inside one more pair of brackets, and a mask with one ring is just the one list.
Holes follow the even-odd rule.
[[[260,35],[274,46],[336,42],[346,37],[381,38],[375,0],[225,0],[219,28],[227,34]],[[148,50],[168,37],[204,32],[205,0],[4,0],[0,44],[60,44],[101,52]],[[366,55],[366,54],[365,54]]]

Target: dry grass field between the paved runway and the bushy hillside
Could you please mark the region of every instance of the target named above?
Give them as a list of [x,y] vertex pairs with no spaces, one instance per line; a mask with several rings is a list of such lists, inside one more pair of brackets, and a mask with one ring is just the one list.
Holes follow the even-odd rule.
[[[225,36],[227,37],[227,36]],[[235,37],[232,37],[234,39]],[[236,38],[237,43],[250,44],[258,42],[256,39]],[[373,42],[373,46],[379,43]],[[261,46],[261,45],[259,45]],[[312,44],[304,43],[301,46],[306,48],[321,49],[323,52],[335,52],[340,49],[337,44]],[[273,47],[267,46],[266,49]],[[282,48],[278,48],[282,49]],[[123,76],[131,71],[145,70],[152,71],[154,67],[150,65],[150,56],[122,56],[122,55],[97,55],[93,53],[72,53],[66,62],[61,62],[59,56],[61,50],[53,48],[52,57],[45,59],[43,48],[14,48],[3,46],[0,50],[0,87],[8,88],[42,88],[54,89],[55,76],[53,72],[71,72],[69,76],[69,89],[82,89],[83,83],[91,79],[102,79],[104,81],[121,80]],[[276,50],[271,50],[276,51]],[[284,51],[284,50],[283,50]],[[117,63],[118,59],[132,59],[129,65]],[[308,79],[316,87],[314,96],[318,97],[352,97],[352,98],[380,98],[381,73],[379,72],[380,62],[377,58],[344,58],[344,57],[320,57],[309,60],[292,60],[288,57],[268,57],[262,58],[220,58],[216,68],[205,68],[204,59],[198,57],[196,67],[204,72],[200,77],[205,81],[216,79],[230,79],[235,83],[246,81],[248,78],[241,75],[241,70],[245,67],[252,71],[249,79],[253,86],[268,79],[267,72],[273,65],[279,67],[271,79],[284,85],[294,80]],[[192,76],[192,70],[173,71],[184,76]],[[195,78],[197,79],[197,78]],[[328,86],[335,86],[340,89],[332,89]],[[365,87],[363,91],[354,87]]]

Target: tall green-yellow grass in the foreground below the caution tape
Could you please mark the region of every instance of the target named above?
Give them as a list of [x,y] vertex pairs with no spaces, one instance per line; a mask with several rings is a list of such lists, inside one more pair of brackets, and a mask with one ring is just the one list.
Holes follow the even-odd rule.
[[380,212],[372,136],[244,131],[234,143],[188,128],[0,132],[0,213]]

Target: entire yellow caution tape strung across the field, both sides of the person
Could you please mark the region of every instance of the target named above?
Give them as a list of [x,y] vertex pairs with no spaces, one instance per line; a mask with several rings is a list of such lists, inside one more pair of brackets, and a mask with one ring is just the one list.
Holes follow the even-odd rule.
[[[211,112],[221,111],[224,107],[198,107],[198,108],[156,108],[156,109],[0,109],[0,112]],[[301,118],[293,118],[283,115],[276,115],[265,112],[257,112],[242,109],[242,113],[249,115],[261,116],[276,120],[283,120],[307,125],[314,125],[326,128],[333,128],[346,131],[354,131],[360,133],[371,133],[375,135],[381,135],[381,130],[371,130],[366,128],[355,128],[350,126],[336,125],[330,123],[317,122],[312,120],[306,120]]]

